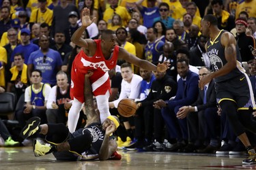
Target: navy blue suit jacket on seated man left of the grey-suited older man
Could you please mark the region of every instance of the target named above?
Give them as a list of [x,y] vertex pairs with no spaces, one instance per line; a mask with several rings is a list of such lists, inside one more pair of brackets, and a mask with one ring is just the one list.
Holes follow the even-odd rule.
[[197,100],[199,77],[196,73],[188,70],[186,83],[183,84],[182,78],[177,82],[177,94],[175,99],[168,102],[168,107],[174,109],[177,105],[191,105]]

